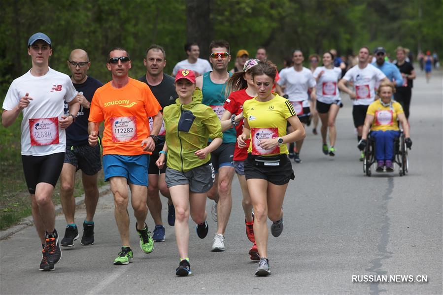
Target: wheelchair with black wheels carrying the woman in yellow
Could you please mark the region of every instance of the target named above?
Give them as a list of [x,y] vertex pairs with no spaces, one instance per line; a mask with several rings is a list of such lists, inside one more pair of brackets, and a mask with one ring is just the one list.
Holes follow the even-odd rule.
[[[367,176],[371,176],[372,166],[377,162],[375,160],[375,141],[371,138],[371,134],[368,134],[367,144],[365,147],[365,158],[363,159],[363,173]],[[406,147],[405,142],[405,133],[400,130],[400,136],[394,139],[394,159],[392,159],[392,163],[397,164],[399,167],[399,175],[403,176],[408,174],[409,170],[409,158],[408,158],[408,149]],[[375,169],[374,169],[375,171]],[[380,171],[377,173],[389,173],[386,171]]]

